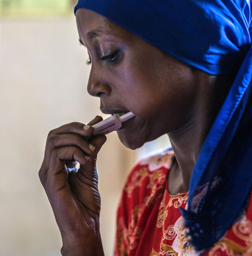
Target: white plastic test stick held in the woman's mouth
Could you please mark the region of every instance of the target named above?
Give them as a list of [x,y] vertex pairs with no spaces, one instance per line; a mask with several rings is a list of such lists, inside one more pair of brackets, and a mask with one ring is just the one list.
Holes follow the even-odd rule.
[[109,118],[106,118],[105,120],[100,121],[99,123],[96,123],[92,125],[94,128],[94,133],[93,135],[97,134],[108,134],[113,131],[118,130],[121,126],[122,123],[129,120],[130,118],[133,118],[135,115],[132,112],[128,112],[120,117],[118,116],[110,116]]

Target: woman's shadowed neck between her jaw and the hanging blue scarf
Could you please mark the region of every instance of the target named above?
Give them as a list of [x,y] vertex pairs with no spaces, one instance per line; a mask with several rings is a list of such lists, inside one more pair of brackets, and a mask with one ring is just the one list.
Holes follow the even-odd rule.
[[182,127],[168,133],[175,154],[174,163],[169,171],[170,194],[189,190],[191,174],[202,144],[228,92],[228,86],[219,82],[217,77],[207,77],[199,79],[199,86],[202,89],[195,95],[197,99],[191,117]]

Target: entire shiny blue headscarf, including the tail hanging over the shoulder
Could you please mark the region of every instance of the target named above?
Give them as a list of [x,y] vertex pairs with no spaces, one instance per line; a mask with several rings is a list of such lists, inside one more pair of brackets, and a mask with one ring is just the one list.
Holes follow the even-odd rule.
[[209,74],[239,66],[196,161],[188,209],[181,210],[191,243],[202,252],[246,208],[252,185],[251,7],[250,0],[79,0],[74,9],[95,11]]

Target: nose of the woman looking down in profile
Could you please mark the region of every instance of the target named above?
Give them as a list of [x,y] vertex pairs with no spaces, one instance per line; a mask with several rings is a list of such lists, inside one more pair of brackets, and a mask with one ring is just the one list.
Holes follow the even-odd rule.
[[102,75],[102,73],[99,75],[91,69],[87,84],[87,92],[95,97],[109,95],[111,93],[111,87],[106,82],[105,78],[106,75]]

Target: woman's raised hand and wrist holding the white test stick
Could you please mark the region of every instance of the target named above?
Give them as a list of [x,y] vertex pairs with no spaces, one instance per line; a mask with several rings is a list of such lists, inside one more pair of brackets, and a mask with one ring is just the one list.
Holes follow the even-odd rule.
[[[50,131],[39,178],[61,232],[63,256],[103,256],[96,156],[105,135],[91,139],[88,125],[69,123]],[[80,168],[76,164],[80,163]]]

